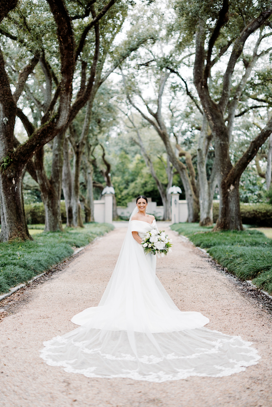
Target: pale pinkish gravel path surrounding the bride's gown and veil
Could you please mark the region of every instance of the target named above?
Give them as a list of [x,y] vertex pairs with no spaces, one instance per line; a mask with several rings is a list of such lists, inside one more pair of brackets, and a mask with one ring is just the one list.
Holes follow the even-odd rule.
[[126,225],[119,223],[47,281],[23,290],[21,300],[15,293],[19,302],[10,298],[8,316],[0,324],[2,407],[272,406],[270,313],[192,244],[166,230],[173,252],[158,259],[157,275],[174,302],[181,310],[210,318],[208,328],[254,342],[260,362],[232,376],[164,383],[88,379],[46,365],[39,357],[43,341],[74,329],[70,318],[98,304],[125,236]]

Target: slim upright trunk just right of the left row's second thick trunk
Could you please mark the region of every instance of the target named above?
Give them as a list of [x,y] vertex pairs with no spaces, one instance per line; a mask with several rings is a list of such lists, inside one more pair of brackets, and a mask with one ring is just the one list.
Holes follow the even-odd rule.
[[64,140],[63,148],[63,167],[62,167],[62,190],[65,199],[66,209],[66,226],[72,226],[73,214],[72,214],[72,170],[70,165],[69,156],[69,142],[68,139]]

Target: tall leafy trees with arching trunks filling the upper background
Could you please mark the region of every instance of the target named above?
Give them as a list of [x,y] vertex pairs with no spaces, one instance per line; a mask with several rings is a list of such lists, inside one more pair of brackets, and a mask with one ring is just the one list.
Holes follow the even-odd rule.
[[[146,193],[170,217],[242,228],[240,199],[271,193],[269,1],[0,2],[0,240],[30,239],[23,200],[45,230],[93,220]],[[27,192],[26,192],[27,191]]]

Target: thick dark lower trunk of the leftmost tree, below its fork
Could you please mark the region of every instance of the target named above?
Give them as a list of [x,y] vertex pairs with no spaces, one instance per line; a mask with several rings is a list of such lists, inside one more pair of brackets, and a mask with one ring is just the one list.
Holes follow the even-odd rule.
[[22,172],[19,169],[12,177],[0,171],[1,242],[32,239],[24,216]]

